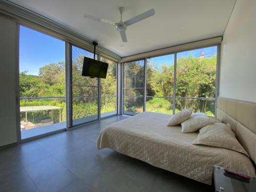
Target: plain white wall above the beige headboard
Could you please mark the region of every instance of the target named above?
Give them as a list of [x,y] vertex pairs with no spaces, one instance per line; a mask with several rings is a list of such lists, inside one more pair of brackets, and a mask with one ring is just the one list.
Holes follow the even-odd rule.
[[220,96],[256,102],[256,1],[237,0],[221,46]]

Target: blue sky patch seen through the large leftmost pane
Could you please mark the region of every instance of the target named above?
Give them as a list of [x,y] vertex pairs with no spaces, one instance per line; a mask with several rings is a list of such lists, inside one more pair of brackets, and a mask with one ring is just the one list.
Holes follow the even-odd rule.
[[40,67],[65,61],[65,42],[57,38],[20,26],[19,71],[38,75]]

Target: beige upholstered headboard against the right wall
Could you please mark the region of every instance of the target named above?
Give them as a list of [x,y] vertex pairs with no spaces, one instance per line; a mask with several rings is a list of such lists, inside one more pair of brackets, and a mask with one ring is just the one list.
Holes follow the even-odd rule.
[[256,103],[218,97],[217,118],[229,123],[237,139],[256,161]]

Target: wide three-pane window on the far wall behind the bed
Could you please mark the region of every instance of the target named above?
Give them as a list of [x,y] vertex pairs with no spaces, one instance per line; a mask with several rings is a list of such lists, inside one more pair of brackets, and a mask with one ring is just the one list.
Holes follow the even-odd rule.
[[147,58],[146,70],[144,60],[123,63],[123,113],[173,114],[191,109],[214,116],[217,50],[212,46]]

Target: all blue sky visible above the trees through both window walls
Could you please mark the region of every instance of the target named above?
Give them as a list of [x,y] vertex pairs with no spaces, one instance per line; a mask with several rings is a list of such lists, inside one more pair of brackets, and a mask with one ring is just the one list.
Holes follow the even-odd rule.
[[[177,53],[180,57],[200,57],[204,52],[205,57],[217,55],[217,47],[209,47],[192,51]],[[74,48],[74,53],[89,54],[88,51]],[[91,56],[91,55],[90,55]],[[174,54],[153,57],[150,59],[155,65],[174,65]],[[40,67],[49,63],[65,61],[65,41],[37,32],[24,26],[19,31],[19,71],[28,71],[27,74],[38,75]]]

